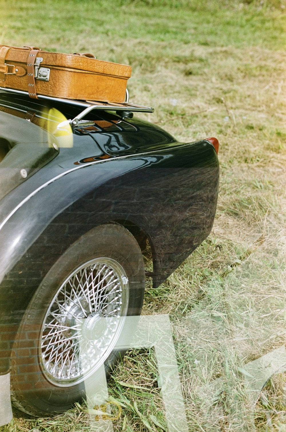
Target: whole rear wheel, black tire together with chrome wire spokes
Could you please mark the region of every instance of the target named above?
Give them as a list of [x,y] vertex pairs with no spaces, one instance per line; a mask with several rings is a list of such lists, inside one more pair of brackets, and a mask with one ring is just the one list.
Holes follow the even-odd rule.
[[94,227],[50,267],[25,310],[11,357],[12,400],[33,416],[63,413],[97,391],[124,356],[124,317],[140,315],[141,249],[122,226]]

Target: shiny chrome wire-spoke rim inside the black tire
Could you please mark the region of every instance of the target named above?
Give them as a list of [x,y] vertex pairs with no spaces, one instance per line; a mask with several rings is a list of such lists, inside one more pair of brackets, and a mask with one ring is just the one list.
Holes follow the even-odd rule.
[[91,375],[112,351],[128,307],[128,279],[110,258],[91,260],[69,275],[54,296],[41,331],[41,365],[53,384]]

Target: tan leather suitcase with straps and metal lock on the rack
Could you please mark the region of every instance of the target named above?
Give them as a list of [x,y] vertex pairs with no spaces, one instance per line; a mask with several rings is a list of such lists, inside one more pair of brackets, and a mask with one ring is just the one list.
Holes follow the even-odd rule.
[[124,102],[131,66],[92,54],[63,54],[0,45],[0,87],[65,99]]

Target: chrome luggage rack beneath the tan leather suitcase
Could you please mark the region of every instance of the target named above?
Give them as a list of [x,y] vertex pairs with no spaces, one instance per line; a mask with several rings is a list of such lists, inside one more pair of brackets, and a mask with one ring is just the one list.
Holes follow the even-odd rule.
[[[0,90],[4,90],[10,93],[16,93],[20,95],[27,95],[28,92],[23,92],[22,90],[14,90],[0,87]],[[79,121],[85,117],[91,111],[94,110],[104,110],[104,111],[116,111],[123,118],[132,118],[133,112],[154,112],[154,108],[146,107],[143,105],[136,105],[129,103],[129,92],[126,89],[126,101],[122,103],[118,102],[100,102],[100,101],[79,101],[76,99],[62,99],[62,98],[52,98],[50,96],[38,95],[38,99],[44,99],[52,102],[64,102],[65,104],[79,106],[84,108],[75,118],[69,120],[69,123],[75,127],[79,124]],[[35,99],[32,99],[35,102]]]

